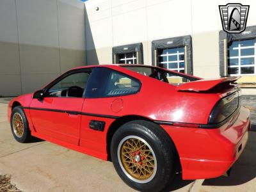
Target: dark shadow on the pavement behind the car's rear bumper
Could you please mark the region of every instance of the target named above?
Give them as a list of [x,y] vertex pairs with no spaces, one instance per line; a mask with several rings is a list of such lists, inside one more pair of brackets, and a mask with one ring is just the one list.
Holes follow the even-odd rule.
[[[255,127],[255,125],[253,125]],[[256,177],[256,132],[249,132],[249,140],[243,153],[232,166],[230,177],[205,179],[203,186],[237,186],[244,184]]]

